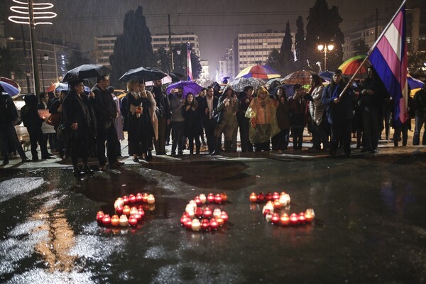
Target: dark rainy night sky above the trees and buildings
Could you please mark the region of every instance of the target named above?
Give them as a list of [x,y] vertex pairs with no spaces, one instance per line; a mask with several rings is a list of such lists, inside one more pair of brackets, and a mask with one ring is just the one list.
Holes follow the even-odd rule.
[[[16,24],[7,20],[12,0],[0,0],[0,16],[6,24],[6,36],[20,36]],[[40,3],[40,0],[35,0]],[[306,27],[309,9],[315,0],[52,0],[58,17],[53,25],[37,26],[38,36],[62,38],[80,43],[83,51],[92,50],[93,38],[99,35],[122,33],[124,15],[129,10],[143,7],[152,34],[168,33],[168,13],[172,33],[196,33],[200,40],[201,57],[209,60],[210,77],[214,76],[218,60],[224,55],[238,33],[257,31],[284,31],[290,21],[290,30],[296,31],[295,20],[302,16]],[[327,1],[329,8],[339,7],[344,18],[343,32],[357,26],[359,21],[379,9],[379,18],[390,20],[401,1],[357,0]],[[14,34],[17,33],[17,34]]]

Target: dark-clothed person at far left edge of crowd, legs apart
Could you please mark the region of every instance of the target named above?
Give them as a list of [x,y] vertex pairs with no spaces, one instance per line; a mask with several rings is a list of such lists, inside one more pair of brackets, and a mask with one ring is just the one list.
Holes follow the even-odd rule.
[[13,121],[18,119],[18,111],[16,111],[15,104],[13,104],[9,94],[3,94],[4,88],[0,85],[0,146],[1,155],[3,155],[3,165],[9,164],[8,145],[15,146],[21,156],[22,163],[31,162],[26,157],[23,151],[21,142],[18,140],[15,126]]

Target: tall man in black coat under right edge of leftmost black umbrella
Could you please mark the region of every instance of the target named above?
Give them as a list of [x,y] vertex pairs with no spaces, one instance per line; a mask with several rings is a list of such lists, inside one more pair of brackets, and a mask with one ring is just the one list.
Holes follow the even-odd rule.
[[117,160],[117,138],[114,119],[118,115],[116,104],[107,92],[109,76],[102,75],[97,78],[97,84],[92,88],[94,98],[91,97],[94,116],[96,117],[97,138],[96,148],[99,160],[99,170],[105,170],[107,158],[105,157],[105,143],[107,143],[107,157],[109,165],[124,165]]

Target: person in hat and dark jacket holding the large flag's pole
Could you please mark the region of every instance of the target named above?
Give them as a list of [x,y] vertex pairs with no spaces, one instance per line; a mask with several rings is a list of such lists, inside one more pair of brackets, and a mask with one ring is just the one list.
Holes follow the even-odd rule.
[[[351,84],[351,81],[348,83]],[[322,104],[326,106],[327,120],[332,126],[332,141],[330,143],[330,155],[336,156],[339,144],[343,144],[344,153],[351,155],[351,129],[354,117],[355,94],[351,87],[346,88],[342,72],[334,71],[332,82],[324,88]]]

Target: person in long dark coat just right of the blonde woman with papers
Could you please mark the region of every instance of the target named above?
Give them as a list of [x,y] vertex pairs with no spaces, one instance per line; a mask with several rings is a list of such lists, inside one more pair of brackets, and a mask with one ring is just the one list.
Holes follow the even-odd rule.
[[163,89],[161,89],[163,82],[155,80],[153,83],[153,94],[157,103],[156,111],[158,117],[158,140],[154,141],[154,146],[157,155],[165,155],[166,126],[170,125],[170,102]]

